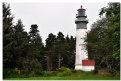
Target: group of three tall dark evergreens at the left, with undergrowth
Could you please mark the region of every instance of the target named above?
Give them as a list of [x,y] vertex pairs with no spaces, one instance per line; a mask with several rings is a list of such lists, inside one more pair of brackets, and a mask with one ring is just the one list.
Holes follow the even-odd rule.
[[39,75],[42,71],[40,53],[44,45],[37,30],[38,26],[31,26],[29,36],[20,19],[13,25],[10,11],[10,5],[3,3],[3,77]]

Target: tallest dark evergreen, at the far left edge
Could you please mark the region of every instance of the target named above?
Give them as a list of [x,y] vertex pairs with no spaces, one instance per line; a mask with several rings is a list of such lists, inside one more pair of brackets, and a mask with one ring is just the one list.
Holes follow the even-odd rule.
[[3,3],[3,67],[12,68],[13,63],[13,15],[10,5]]

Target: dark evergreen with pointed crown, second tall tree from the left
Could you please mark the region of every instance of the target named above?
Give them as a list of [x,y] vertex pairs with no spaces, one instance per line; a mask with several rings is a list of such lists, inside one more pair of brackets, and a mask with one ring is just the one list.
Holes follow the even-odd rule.
[[[24,25],[21,20],[18,20],[17,24],[14,26],[14,62],[16,64],[15,67],[23,68],[23,59],[27,56],[28,50],[28,34],[23,29]],[[26,48],[25,48],[26,47]]]

